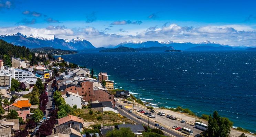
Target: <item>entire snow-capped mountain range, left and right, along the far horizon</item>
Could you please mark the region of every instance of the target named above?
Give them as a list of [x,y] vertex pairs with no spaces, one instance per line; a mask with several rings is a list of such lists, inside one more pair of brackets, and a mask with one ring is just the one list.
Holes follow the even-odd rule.
[[[23,35],[21,33],[17,34],[7,34],[1,35],[0,39],[3,39],[9,43],[17,46],[25,46],[30,49],[40,48],[40,47],[52,47],[55,49],[62,50],[77,50],[77,51],[100,51],[109,48],[95,48],[89,41],[77,37],[71,40],[60,39],[55,35],[52,37],[45,38],[40,35]],[[122,42],[113,48],[118,48],[120,46],[128,48],[150,48],[150,47],[173,47],[175,50],[244,50],[248,47],[233,47],[229,45],[223,45],[216,42],[204,41],[201,43],[177,43],[173,41],[126,41]]]

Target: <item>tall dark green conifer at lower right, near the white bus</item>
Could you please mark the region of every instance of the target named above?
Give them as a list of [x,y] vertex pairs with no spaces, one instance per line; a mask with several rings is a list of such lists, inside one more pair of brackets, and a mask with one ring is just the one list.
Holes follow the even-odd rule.
[[202,137],[228,137],[232,125],[227,118],[221,117],[217,111],[214,111],[213,116],[209,116],[207,129],[201,135]]

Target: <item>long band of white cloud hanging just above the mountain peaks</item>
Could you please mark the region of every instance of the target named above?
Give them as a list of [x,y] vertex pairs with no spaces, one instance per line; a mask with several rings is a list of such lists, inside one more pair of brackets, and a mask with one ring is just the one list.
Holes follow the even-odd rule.
[[[33,28],[27,26],[2,27],[0,35],[20,32],[23,35],[38,34],[43,37],[56,35],[62,39],[81,37],[90,41],[95,47],[117,45],[124,41],[157,40],[174,42],[202,42],[209,40],[234,46],[256,46],[256,31],[249,26],[226,25],[226,26],[202,26],[188,27],[170,24],[163,27],[150,27],[150,29],[129,30],[128,33],[109,34],[93,27],[66,28],[65,26],[49,26],[46,28]],[[138,32],[138,33],[137,33]]]

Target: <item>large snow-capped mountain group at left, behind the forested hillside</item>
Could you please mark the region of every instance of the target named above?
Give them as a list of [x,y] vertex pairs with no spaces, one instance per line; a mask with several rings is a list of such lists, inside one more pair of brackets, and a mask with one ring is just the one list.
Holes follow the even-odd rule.
[[95,48],[92,43],[82,38],[74,38],[71,40],[59,39],[55,35],[23,35],[21,33],[1,35],[3,39],[9,43],[18,46],[26,46],[28,48],[53,47],[64,50],[85,50]]

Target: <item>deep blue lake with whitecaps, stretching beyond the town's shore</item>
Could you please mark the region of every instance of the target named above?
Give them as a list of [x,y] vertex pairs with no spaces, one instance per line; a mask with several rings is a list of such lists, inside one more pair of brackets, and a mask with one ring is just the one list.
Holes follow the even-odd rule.
[[107,72],[116,88],[159,107],[199,114],[217,110],[234,126],[256,132],[256,52],[183,51],[63,55],[65,61]]

